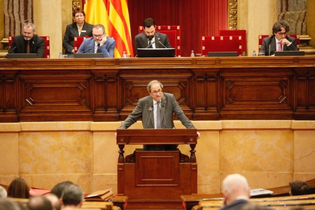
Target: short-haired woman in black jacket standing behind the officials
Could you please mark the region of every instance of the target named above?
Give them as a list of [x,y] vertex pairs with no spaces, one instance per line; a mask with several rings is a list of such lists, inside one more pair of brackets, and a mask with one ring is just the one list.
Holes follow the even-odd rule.
[[85,12],[82,8],[76,7],[72,12],[74,22],[66,26],[62,46],[65,54],[74,53],[74,36],[92,36],[93,25],[85,22]]

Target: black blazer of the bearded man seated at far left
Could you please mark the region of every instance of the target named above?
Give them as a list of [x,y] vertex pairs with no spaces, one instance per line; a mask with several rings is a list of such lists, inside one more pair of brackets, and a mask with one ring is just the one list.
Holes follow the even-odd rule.
[[[27,41],[23,35],[15,36],[10,47],[12,50],[9,50],[9,53],[26,53],[26,44]],[[29,40],[29,53],[36,53],[38,58],[42,58],[45,53],[45,40],[34,34]]]

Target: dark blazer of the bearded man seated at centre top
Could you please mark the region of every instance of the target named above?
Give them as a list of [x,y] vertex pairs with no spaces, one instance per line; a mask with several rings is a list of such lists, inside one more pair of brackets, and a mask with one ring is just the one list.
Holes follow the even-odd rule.
[[[155,38],[155,48],[165,48],[164,46],[166,46],[166,48],[170,48],[170,44],[169,44],[168,37],[166,34],[155,32],[154,38]],[[164,46],[160,44],[158,41],[160,41]],[[145,48],[147,46],[148,46],[148,40],[147,40],[147,37],[145,36],[145,33],[142,32],[142,33],[137,34],[135,36],[135,49]]]

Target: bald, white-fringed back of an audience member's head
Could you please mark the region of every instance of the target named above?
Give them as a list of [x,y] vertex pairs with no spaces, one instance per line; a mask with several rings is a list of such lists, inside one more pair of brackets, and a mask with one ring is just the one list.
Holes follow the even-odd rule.
[[240,174],[230,174],[223,179],[222,193],[226,205],[233,202],[237,197],[249,198],[250,190],[247,180]]

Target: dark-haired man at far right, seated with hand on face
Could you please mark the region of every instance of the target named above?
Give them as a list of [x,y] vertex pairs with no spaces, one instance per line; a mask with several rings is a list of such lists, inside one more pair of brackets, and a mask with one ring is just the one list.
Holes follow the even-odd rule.
[[265,55],[273,55],[275,51],[296,51],[296,39],[286,36],[289,26],[284,21],[277,21],[273,24],[271,36],[262,39],[259,52]]

